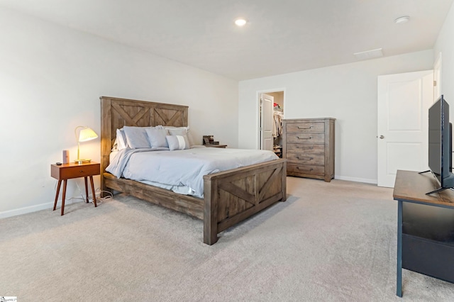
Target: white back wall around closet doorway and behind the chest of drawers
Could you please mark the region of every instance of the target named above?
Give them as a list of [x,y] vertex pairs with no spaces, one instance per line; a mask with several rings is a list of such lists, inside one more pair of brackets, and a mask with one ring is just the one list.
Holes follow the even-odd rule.
[[336,178],[377,183],[377,76],[432,68],[426,50],[241,81],[238,145],[258,147],[258,91],[283,88],[284,118],[336,118]]

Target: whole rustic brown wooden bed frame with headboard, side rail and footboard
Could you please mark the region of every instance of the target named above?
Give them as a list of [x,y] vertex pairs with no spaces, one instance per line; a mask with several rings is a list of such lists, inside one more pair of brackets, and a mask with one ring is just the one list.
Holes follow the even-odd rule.
[[285,201],[287,162],[272,160],[204,176],[204,199],[176,194],[106,172],[116,129],[128,126],[188,125],[188,107],[101,96],[101,188],[120,191],[187,213],[204,221],[204,242],[213,245],[218,233]]

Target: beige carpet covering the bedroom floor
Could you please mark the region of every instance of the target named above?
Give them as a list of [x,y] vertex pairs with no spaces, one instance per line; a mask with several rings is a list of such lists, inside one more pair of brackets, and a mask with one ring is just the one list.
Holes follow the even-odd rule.
[[[287,179],[285,203],[202,242],[201,220],[118,195],[0,220],[0,296],[18,301],[454,301],[404,270],[392,189]],[[13,202],[13,201],[11,201]]]

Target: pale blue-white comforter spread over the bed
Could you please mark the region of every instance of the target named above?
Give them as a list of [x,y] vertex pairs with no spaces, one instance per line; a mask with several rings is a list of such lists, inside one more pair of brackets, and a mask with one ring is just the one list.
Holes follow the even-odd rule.
[[188,150],[124,149],[106,171],[116,177],[150,181],[168,186],[187,186],[203,197],[204,175],[258,164],[279,157],[266,150],[197,147]]

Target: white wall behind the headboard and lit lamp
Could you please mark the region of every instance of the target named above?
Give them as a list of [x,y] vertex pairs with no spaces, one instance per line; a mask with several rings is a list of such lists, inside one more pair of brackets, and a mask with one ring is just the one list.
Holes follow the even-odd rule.
[[[187,105],[196,141],[238,146],[237,81],[2,8],[0,36],[0,218],[52,207],[50,164],[75,159],[77,125],[100,134],[99,96]],[[81,156],[99,161],[99,145]]]

